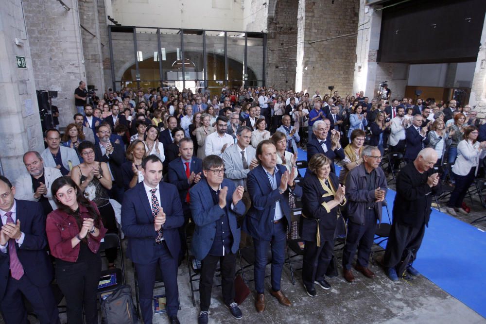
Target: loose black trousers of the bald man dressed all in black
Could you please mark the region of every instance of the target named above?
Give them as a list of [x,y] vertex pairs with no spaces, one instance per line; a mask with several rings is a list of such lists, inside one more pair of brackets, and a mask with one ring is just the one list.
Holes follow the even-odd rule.
[[417,252],[422,244],[425,233],[425,224],[421,227],[411,227],[398,222],[393,222],[390,236],[386,243],[383,265],[385,268],[395,268],[407,255],[407,250],[414,253],[410,260],[412,263],[417,258]]

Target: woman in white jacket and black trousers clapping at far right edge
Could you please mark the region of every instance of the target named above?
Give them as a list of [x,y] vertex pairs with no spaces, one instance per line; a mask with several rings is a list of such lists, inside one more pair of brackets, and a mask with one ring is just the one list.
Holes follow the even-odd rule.
[[486,141],[478,142],[478,135],[479,130],[475,126],[468,126],[464,129],[464,139],[457,145],[457,159],[452,166],[455,187],[446,207],[452,216],[457,216],[456,212],[468,215],[461,207],[462,201],[478,173],[479,160],[486,156]]

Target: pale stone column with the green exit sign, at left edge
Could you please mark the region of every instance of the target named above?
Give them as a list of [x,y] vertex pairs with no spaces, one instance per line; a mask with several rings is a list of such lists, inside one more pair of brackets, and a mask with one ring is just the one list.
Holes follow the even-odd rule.
[[[44,150],[21,0],[2,2],[0,48],[0,167],[2,173],[14,182],[25,172],[23,153]],[[25,57],[27,68],[17,68],[17,55]]]

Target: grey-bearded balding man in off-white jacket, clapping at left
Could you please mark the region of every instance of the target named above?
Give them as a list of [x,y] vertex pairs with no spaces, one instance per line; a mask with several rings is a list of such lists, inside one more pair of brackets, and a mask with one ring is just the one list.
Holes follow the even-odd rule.
[[26,152],[22,160],[29,174],[23,174],[15,181],[17,199],[39,202],[47,216],[57,209],[52,200],[51,185],[55,179],[62,177],[61,171],[44,167],[44,160],[35,151]]

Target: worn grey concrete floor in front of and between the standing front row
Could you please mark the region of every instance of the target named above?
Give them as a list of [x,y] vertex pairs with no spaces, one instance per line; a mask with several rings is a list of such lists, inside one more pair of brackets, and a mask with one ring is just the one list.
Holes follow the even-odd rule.
[[[390,187],[393,188],[394,186]],[[445,202],[439,202],[441,207],[445,205]],[[485,209],[479,203],[478,196],[473,197],[472,205],[469,198],[467,198],[466,203],[476,212],[471,212],[468,216],[458,217],[460,220],[469,223],[484,215]],[[441,210],[445,211],[444,208]],[[477,223],[475,226],[481,230],[486,230],[486,221]],[[427,232],[425,235],[427,235]],[[125,244],[124,241],[123,245]],[[373,248],[380,250],[378,246]],[[341,251],[337,251],[336,256],[339,257],[340,255]],[[383,252],[375,254],[378,262],[382,255]],[[300,265],[296,264],[295,267],[300,267]],[[132,264],[128,259],[125,259],[125,268],[127,283],[133,288]],[[239,263],[237,263],[237,269],[239,269]],[[356,280],[352,284],[344,280],[342,270],[339,269],[338,277],[327,278],[332,286],[331,289],[322,290],[316,287],[317,296],[311,298],[303,289],[301,272],[295,272],[296,284],[294,286],[289,268],[285,266],[282,274],[282,291],[289,297],[293,306],[281,306],[275,298],[266,293],[266,310],[258,314],[254,307],[254,286],[250,282],[249,288],[252,293],[241,305],[242,320],[236,320],[230,315],[222,302],[221,288],[214,288],[209,323],[486,323],[485,318],[423,276],[419,276],[411,282],[403,279],[399,282],[392,282],[386,277],[381,267],[370,264],[370,269],[377,274],[375,279],[368,279],[361,273],[354,271]],[[267,272],[269,273],[269,267],[267,267]],[[247,276],[250,279],[253,277],[252,273]],[[218,279],[215,279],[215,281],[217,282]],[[270,278],[265,279],[267,289],[269,289],[269,281]],[[179,268],[178,283],[181,302],[179,320],[181,323],[197,323],[199,295],[196,292],[196,307],[193,307],[186,262]],[[160,292],[156,290],[155,294]],[[65,314],[61,314],[61,320],[62,323],[66,323]],[[31,319],[31,323],[36,323],[34,318]],[[142,322],[140,321],[140,323]],[[155,314],[154,323],[168,323],[167,316]]]

